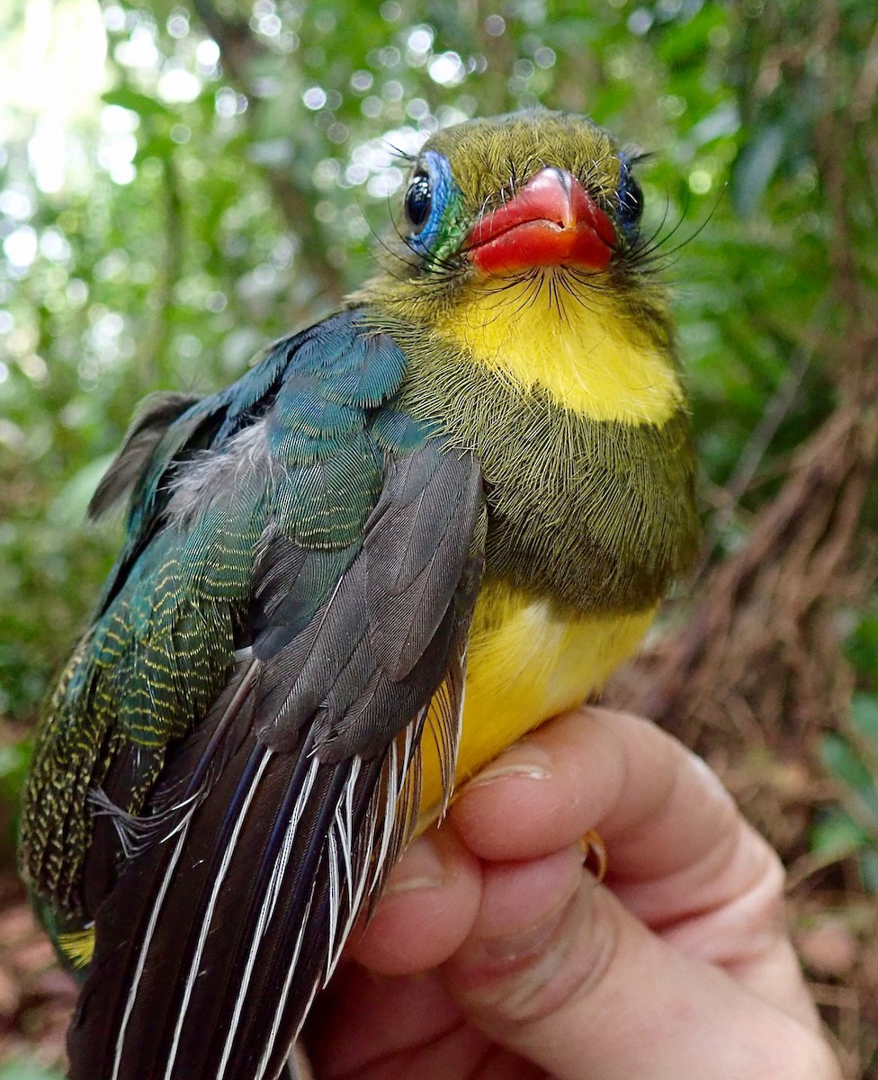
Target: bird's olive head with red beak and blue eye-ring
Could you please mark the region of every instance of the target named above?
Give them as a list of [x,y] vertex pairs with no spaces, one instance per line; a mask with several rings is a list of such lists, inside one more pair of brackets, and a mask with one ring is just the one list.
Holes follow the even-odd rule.
[[644,272],[631,158],[591,120],[535,110],[447,127],[413,163],[392,260],[360,297],[432,323],[485,293],[612,305],[666,337]]

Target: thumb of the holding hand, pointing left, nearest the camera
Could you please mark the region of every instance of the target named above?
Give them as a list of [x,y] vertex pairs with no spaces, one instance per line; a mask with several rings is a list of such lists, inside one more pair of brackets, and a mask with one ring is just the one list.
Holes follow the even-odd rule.
[[485,868],[473,933],[443,968],[501,1045],[558,1080],[839,1077],[816,1032],[650,933],[587,877],[523,927],[511,873]]

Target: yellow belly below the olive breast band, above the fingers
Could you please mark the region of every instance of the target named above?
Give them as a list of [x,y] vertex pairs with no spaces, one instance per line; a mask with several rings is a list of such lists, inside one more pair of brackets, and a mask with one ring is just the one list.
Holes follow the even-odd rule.
[[[602,690],[637,648],[656,608],[564,620],[549,604],[499,586],[479,594],[467,662],[456,786],[526,732]],[[438,754],[423,740],[420,824],[442,806]]]

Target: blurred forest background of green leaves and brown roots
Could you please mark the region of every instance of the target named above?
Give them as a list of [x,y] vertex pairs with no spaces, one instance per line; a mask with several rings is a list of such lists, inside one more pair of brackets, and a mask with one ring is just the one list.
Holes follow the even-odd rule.
[[0,5],[0,1080],[72,997],[14,873],[53,675],[144,394],[210,392],[373,266],[437,125],[545,105],[648,152],[705,546],[610,700],[703,754],[789,868],[849,1077],[878,1077],[874,0]]

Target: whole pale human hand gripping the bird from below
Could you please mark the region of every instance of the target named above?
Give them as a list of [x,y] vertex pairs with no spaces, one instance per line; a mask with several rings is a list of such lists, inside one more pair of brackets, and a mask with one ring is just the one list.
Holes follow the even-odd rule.
[[[597,883],[581,837],[609,858]],[[783,870],[645,720],[562,716],[394,869],[308,1032],[318,1080],[840,1080]]]

